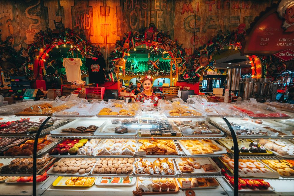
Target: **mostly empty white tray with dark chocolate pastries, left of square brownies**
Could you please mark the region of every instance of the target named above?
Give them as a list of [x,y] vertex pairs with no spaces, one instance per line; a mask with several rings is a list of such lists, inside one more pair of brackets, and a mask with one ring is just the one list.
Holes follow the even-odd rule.
[[[127,127],[128,128],[128,133],[114,133],[114,129],[116,127],[119,127],[119,126]],[[117,136],[117,137],[136,136],[137,133],[138,133],[138,128],[139,128],[138,122],[137,123],[132,123],[130,125],[123,125],[123,124],[121,124],[121,122],[119,122],[118,124],[112,124],[111,120],[108,119],[103,123],[103,125],[101,125],[94,132],[94,135],[95,136]],[[109,132],[104,132],[104,130],[108,131],[108,130],[111,130],[111,129],[113,129],[113,130],[109,131]]]

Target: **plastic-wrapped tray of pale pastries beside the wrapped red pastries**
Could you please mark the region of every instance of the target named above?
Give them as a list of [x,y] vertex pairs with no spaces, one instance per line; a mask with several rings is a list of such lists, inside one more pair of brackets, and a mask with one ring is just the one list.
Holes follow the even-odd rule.
[[200,96],[195,96],[193,98],[188,98],[187,103],[193,108],[200,110],[205,113],[207,117],[243,117],[244,113],[235,109],[232,105],[228,103],[211,103],[202,99]]

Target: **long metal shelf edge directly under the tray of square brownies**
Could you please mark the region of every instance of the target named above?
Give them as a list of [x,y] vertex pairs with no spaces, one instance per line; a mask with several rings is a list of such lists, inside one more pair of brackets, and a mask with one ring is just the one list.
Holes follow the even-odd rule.
[[70,139],[112,139],[112,140],[220,140],[225,137],[140,137],[140,136],[70,136],[70,135],[50,135],[52,138]]

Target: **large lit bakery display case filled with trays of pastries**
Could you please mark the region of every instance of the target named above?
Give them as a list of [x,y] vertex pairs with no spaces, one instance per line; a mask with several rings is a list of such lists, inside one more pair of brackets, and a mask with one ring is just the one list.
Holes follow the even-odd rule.
[[[53,118],[48,117],[47,122],[39,124],[36,124],[42,120],[39,118],[44,117],[1,120],[7,125],[10,121],[35,119],[34,126],[41,127],[42,131],[37,131],[40,136],[36,132],[18,137],[13,137],[14,133],[2,136],[0,144],[3,143],[4,150],[0,157],[0,163],[3,163],[0,177],[3,176],[4,182],[0,187],[5,195],[12,189],[32,195],[34,156],[21,157],[13,152],[28,149],[28,140],[37,142],[39,148],[44,146],[41,145],[44,141],[50,140],[50,144],[36,152],[38,195],[99,195],[106,191],[108,195],[185,195],[191,190],[203,195],[234,195],[234,174],[239,177],[240,194],[293,195],[294,189],[290,185],[294,180],[291,150],[294,127],[276,121],[291,118],[253,119],[245,114],[240,117],[240,113],[234,118],[232,115],[228,118],[225,115],[211,118],[199,115],[196,118],[196,113],[189,111],[195,108],[174,103],[170,110],[166,106],[158,112],[134,112],[131,118],[121,111],[130,110],[128,104],[112,103],[113,106],[99,108],[98,115],[92,117],[74,118],[67,113],[58,118],[55,116],[53,118],[57,120],[46,128],[44,126],[52,123]],[[165,113],[175,112],[174,107],[182,108],[177,110],[179,115],[166,118]],[[112,113],[119,114],[120,111],[123,115]],[[197,111],[205,115],[201,108]],[[103,115],[99,115],[101,112]],[[183,118],[183,114],[187,116]],[[253,133],[237,134],[244,129],[246,133]],[[263,134],[255,134],[259,132]],[[4,153],[7,150],[10,154]],[[8,156],[11,154],[13,156]],[[235,154],[238,154],[237,165]],[[242,167],[237,173],[234,172],[236,166]]]

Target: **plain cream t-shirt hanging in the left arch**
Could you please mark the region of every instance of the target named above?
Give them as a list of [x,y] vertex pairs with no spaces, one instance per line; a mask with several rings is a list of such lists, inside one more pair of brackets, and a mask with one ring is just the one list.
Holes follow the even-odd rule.
[[68,82],[81,80],[81,66],[82,61],[80,58],[64,58],[63,66],[66,71],[66,78]]

